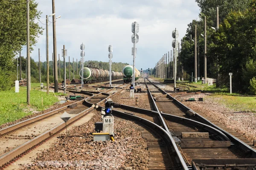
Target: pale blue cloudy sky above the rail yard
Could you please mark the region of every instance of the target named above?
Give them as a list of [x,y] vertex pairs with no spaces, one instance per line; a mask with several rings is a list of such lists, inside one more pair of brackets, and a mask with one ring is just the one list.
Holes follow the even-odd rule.
[[[35,20],[46,28],[46,15],[52,14],[52,0],[36,0],[41,18]],[[65,45],[70,60],[80,60],[80,45],[85,45],[85,60],[108,62],[108,45],[113,47],[112,62],[133,63],[131,23],[139,23],[135,68],[154,68],[164,54],[172,50],[172,31],[178,40],[187,25],[198,19],[200,9],[195,0],[55,0],[57,57]],[[49,17],[52,21],[52,17]],[[50,23],[49,23],[50,24]],[[31,57],[46,61],[46,30],[33,46]],[[49,60],[52,60],[52,24],[49,25]],[[22,55],[26,56],[26,47]],[[63,61],[63,57],[61,57]]]

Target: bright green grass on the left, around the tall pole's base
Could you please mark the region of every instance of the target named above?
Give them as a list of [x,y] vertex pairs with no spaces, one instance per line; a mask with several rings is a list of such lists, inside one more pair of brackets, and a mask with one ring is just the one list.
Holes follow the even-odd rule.
[[0,125],[31,115],[30,108],[43,111],[58,102],[58,98],[55,95],[61,95],[60,93],[54,95],[50,92],[47,95],[46,92],[38,91],[39,89],[39,83],[31,83],[30,106],[26,104],[26,87],[20,87],[19,93],[15,93],[15,88],[9,91],[0,91]]

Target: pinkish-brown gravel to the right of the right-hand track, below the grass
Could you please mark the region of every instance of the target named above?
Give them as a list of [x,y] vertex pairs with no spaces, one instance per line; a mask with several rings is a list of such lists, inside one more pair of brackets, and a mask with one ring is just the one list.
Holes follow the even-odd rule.
[[[204,98],[205,102],[183,102],[183,104],[192,108],[192,110],[204,112],[207,116],[243,134],[249,140],[256,140],[256,113],[234,111],[216,102],[220,98],[207,97],[208,95],[211,94],[200,94],[200,97]],[[189,98],[198,100],[199,95],[189,96]]]

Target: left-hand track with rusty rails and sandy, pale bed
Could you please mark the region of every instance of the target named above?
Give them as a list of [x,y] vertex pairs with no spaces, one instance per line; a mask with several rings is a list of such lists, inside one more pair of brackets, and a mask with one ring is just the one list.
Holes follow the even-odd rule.
[[1,129],[0,169],[8,167],[26,153],[29,153],[34,148],[64,130],[65,123],[60,119],[60,116],[64,111],[70,113],[72,116],[67,121],[67,126],[72,125],[74,122],[87,115],[90,111],[94,110],[96,105],[87,106],[87,100],[94,100],[94,103],[97,103],[107,98],[109,94],[118,94],[121,90],[122,88],[111,88],[99,94],[81,92],[90,97]]

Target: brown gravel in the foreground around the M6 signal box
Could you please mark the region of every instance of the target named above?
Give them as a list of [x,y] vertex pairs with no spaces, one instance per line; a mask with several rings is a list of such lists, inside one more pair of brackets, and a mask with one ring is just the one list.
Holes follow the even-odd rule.
[[[148,151],[145,139],[136,130],[134,122],[114,119],[115,141],[93,142],[94,122],[100,122],[100,113],[94,111],[89,122],[70,130],[68,138],[70,169],[110,170],[136,169],[147,170]],[[26,170],[67,168],[66,136],[59,136],[58,142],[49,150],[38,155],[35,163],[24,165]]]

